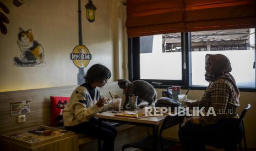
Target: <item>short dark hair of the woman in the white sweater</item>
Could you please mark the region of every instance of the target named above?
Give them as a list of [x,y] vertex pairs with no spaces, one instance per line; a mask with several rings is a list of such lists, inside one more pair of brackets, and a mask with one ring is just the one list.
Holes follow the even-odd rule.
[[95,64],[88,69],[84,79],[85,82],[102,82],[104,79],[109,79],[110,77],[110,69],[108,69],[104,65]]

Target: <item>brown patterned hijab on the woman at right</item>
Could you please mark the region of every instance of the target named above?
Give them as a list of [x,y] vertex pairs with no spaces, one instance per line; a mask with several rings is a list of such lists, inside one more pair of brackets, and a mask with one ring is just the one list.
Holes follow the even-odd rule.
[[[210,65],[208,64],[210,62]],[[210,66],[209,73],[205,73],[205,80],[208,82],[214,82],[217,79],[225,78],[230,80],[236,91],[236,97],[239,98],[240,93],[236,85],[236,81],[230,74],[232,71],[230,60],[225,55],[222,54],[206,54],[205,55],[205,69],[206,66]]]

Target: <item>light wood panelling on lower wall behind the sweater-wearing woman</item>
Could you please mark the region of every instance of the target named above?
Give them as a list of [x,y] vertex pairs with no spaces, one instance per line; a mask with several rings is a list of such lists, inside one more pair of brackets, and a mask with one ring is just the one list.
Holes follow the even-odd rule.
[[[50,96],[70,96],[76,87],[77,85],[0,92],[0,133],[37,125],[50,125]],[[105,97],[110,97],[108,94],[110,90],[122,96],[122,89],[119,89],[117,82],[109,82],[100,90],[101,95]],[[10,115],[10,103],[25,100],[30,101],[31,113],[26,114],[25,123],[18,123],[17,116],[12,117]]]

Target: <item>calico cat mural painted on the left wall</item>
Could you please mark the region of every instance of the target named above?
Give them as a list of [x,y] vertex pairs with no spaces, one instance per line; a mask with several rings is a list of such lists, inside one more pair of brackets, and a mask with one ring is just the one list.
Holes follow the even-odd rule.
[[19,28],[18,40],[21,55],[14,57],[14,65],[20,67],[29,67],[36,65],[45,65],[43,62],[44,51],[42,45],[34,40],[31,29],[28,31]]

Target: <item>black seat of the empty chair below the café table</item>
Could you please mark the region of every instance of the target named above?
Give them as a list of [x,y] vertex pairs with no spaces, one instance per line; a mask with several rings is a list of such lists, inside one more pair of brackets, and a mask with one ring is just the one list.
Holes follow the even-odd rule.
[[[129,147],[134,147],[134,148],[152,150],[153,149],[153,144],[154,144],[154,138],[152,136],[147,136],[147,137],[143,138],[142,140],[140,140],[138,142],[125,144],[122,149],[126,149],[126,148],[129,148]],[[175,144],[174,141],[166,140],[166,139],[162,138],[162,147],[164,149],[172,146],[173,144]],[[156,150],[161,150],[160,139],[157,140],[157,147],[156,148],[157,148]]]

